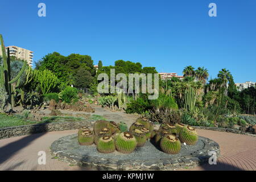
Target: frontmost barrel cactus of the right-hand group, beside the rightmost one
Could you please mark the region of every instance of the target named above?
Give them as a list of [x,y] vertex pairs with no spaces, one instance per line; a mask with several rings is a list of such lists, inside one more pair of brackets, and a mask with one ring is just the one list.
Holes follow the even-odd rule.
[[167,154],[178,154],[181,149],[181,143],[175,135],[166,135],[161,139],[160,148]]

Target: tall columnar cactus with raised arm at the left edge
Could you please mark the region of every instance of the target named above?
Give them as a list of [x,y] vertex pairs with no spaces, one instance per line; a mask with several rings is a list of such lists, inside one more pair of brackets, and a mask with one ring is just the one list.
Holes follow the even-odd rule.
[[13,83],[17,82],[17,85],[19,85],[20,82],[20,76],[22,76],[23,72],[27,68],[27,64],[23,64],[22,69],[18,73],[18,75],[11,80],[11,67],[10,67],[10,49],[7,48],[7,55],[5,52],[5,44],[3,43],[3,37],[0,34],[0,41],[1,41],[1,49],[2,49],[2,57],[3,57],[3,65],[0,65],[0,86],[4,86],[5,90],[9,96],[9,107],[10,110],[14,107],[14,90],[13,90]]

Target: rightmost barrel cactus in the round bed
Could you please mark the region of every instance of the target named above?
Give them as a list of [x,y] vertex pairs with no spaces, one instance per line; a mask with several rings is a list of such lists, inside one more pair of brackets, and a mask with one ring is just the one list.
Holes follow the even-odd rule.
[[191,126],[184,127],[179,134],[179,138],[182,143],[187,143],[188,145],[195,145],[198,140],[196,130]]

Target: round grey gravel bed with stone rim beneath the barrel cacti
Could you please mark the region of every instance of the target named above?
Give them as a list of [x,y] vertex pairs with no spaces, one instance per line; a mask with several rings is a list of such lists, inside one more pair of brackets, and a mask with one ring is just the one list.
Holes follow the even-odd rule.
[[182,144],[179,154],[170,155],[160,151],[151,142],[144,147],[136,148],[131,154],[117,151],[101,154],[96,146],[80,146],[77,134],[59,138],[51,145],[51,153],[60,160],[72,165],[83,166],[96,170],[174,170],[193,168],[207,163],[209,151],[220,154],[220,147],[209,138],[199,137],[195,146]]

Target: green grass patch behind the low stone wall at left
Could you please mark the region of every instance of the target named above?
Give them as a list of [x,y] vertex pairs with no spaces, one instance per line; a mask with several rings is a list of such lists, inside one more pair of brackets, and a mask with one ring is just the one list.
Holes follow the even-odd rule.
[[11,126],[22,126],[22,125],[32,125],[36,122],[27,119],[22,119],[16,116],[0,114],[0,128],[11,127]]

